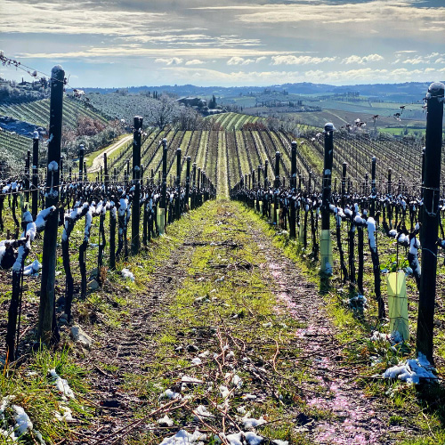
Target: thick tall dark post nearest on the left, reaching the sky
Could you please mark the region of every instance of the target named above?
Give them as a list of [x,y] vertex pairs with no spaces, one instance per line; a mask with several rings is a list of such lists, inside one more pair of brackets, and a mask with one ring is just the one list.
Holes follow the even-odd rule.
[[[65,71],[60,65],[56,65],[51,72],[50,137],[48,139],[48,173],[46,175],[45,208],[51,206],[57,207],[59,205],[59,166],[61,163],[61,122],[64,78]],[[42,280],[37,328],[37,336],[44,344],[50,343],[53,338],[53,329],[57,328],[54,311],[54,285],[58,223],[59,212],[53,212],[48,216],[44,229]]]

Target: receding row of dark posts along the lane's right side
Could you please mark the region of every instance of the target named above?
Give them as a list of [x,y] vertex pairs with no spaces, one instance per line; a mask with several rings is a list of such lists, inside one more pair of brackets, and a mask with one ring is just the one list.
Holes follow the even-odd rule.
[[[433,363],[433,314],[436,294],[436,273],[437,273],[437,239],[440,225],[441,212],[439,208],[440,185],[441,185],[441,148],[442,148],[442,122],[443,122],[443,103],[444,103],[445,85],[433,83],[428,89],[426,95],[426,134],[425,149],[422,152],[422,178],[421,178],[421,198],[423,206],[420,209],[419,220],[422,224],[420,231],[420,243],[422,247],[422,274],[419,288],[419,305],[417,314],[417,352],[425,354],[426,358]],[[321,204],[321,237],[320,271],[326,272],[332,267],[332,247],[330,245],[330,210],[331,202],[331,182],[333,166],[333,134],[334,125],[328,123],[325,125],[324,132],[324,169],[322,182],[322,204]],[[291,150],[291,176],[290,187],[296,192],[296,142],[292,142]],[[274,206],[273,221],[277,221],[276,209],[278,208],[278,189],[280,187],[279,179],[279,151],[275,157],[275,180],[273,183]],[[344,196],[346,191],[346,168],[343,164],[342,169],[342,206],[344,207]],[[258,172],[259,174],[260,172]],[[267,168],[265,172],[267,179]],[[253,178],[254,179],[254,178]],[[258,177],[259,180],[259,177]],[[245,179],[247,182],[247,178]],[[254,179],[255,182],[255,179]],[[365,189],[368,189],[368,176]],[[258,182],[259,183],[259,182]],[[239,183],[240,187],[247,186],[243,184],[243,179]],[[284,184],[283,184],[284,185]],[[267,190],[269,184],[264,182],[264,190]],[[301,184],[299,185],[299,188]],[[237,188],[237,187],[236,187]],[[250,188],[250,187],[249,187]],[[392,193],[392,170],[388,170],[387,193]],[[369,205],[369,216],[376,215],[376,158],[372,158],[371,164],[371,196]],[[295,238],[295,206],[290,206],[290,230],[289,236]]]

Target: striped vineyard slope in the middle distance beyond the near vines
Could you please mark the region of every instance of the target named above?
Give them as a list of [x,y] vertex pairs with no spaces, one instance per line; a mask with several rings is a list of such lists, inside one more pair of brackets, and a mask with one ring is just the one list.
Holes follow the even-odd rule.
[[[313,134],[308,138],[297,138],[298,143],[296,171],[302,177],[303,184],[311,181],[320,186],[323,173],[323,141],[322,134]],[[218,171],[214,160],[218,150],[227,152],[229,162],[228,182],[234,185],[245,174],[250,175],[265,161],[269,166],[275,164],[275,153],[280,152],[280,171],[285,182],[290,178],[290,142],[292,134],[275,130],[196,130],[180,131],[166,127],[163,130],[152,128],[142,140],[142,165],[147,171],[158,174],[161,151],[160,141],[166,138],[173,147],[181,147],[185,156],[190,156],[192,162],[203,166],[210,180],[217,182]],[[126,166],[132,160],[131,143],[113,153],[109,158],[109,166],[117,169],[117,177],[123,178]],[[392,169],[392,181],[397,182],[403,190],[418,193],[422,158],[422,145],[414,140],[385,141],[370,140],[366,136],[348,136],[340,134],[336,138],[334,153],[333,178],[340,184],[343,164],[348,164],[348,184],[350,190],[362,190],[370,173],[370,159],[376,157],[377,186],[385,187],[388,167]],[[173,155],[168,158],[168,175],[173,175]],[[445,173],[442,167],[442,174]]]

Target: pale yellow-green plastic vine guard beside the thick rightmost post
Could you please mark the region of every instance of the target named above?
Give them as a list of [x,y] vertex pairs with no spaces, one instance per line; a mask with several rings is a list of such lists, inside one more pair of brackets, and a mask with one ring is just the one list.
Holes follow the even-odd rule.
[[399,331],[409,341],[407,279],[405,272],[391,272],[387,277],[388,307],[391,332]]

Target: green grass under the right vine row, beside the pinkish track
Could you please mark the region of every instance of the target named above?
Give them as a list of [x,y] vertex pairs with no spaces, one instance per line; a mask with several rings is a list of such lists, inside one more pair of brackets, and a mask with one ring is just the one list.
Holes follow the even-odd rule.
[[[263,224],[263,230],[267,231],[273,238],[274,245],[282,249],[282,251],[298,264],[298,268],[303,271],[306,279],[318,284],[320,283],[319,263],[314,262],[310,255],[311,244],[309,242],[308,249],[304,251],[303,247],[298,241],[288,238],[287,233],[277,231],[276,227],[271,226],[270,223],[260,218],[255,214],[255,217]],[[331,222],[331,227],[335,224]],[[333,237],[334,239],[334,237]],[[308,237],[308,241],[309,237]],[[344,241],[345,242],[345,241]],[[345,244],[344,244],[345,246]],[[383,238],[382,234],[378,235],[378,248],[380,253],[380,263],[387,263],[392,261],[393,241]],[[366,247],[365,247],[366,250]],[[400,252],[400,263],[403,263],[404,253]],[[334,246],[334,263],[335,273],[338,271],[338,252]],[[374,374],[381,374],[384,369],[397,365],[400,360],[405,358],[412,358],[415,353],[415,339],[411,336],[408,344],[403,344],[402,347],[396,348],[395,351],[388,349],[387,344],[376,344],[369,340],[370,332],[373,328],[385,332],[387,325],[381,325],[377,322],[377,308],[376,301],[373,299],[374,278],[369,264],[365,263],[364,287],[366,296],[368,298],[367,312],[361,314],[360,312],[353,312],[344,303],[345,299],[350,295],[347,285],[343,285],[339,277],[334,275],[330,280],[329,292],[322,297],[325,301],[326,312],[328,317],[336,326],[336,338],[341,343],[352,342],[344,350],[344,356],[351,362],[351,367],[357,360],[364,363],[356,371],[362,376],[372,376]],[[441,265],[438,271],[439,283],[442,283],[444,277],[444,267]],[[382,280],[382,295],[385,295],[385,281]],[[438,285],[439,288],[443,286]],[[416,295],[417,290],[413,280],[407,280],[408,295]],[[353,294],[352,294],[353,295]],[[385,299],[385,296],[384,296]],[[439,297],[441,301],[441,298]],[[417,303],[409,302],[409,323],[411,332],[416,329]],[[440,311],[436,317],[443,320],[443,314]],[[439,375],[443,374],[443,352],[445,351],[444,344],[445,336],[438,333],[434,336],[436,354],[440,355],[439,360]],[[379,357],[380,363],[371,367],[371,356]],[[356,365],[355,365],[356,366]],[[372,397],[377,397],[379,401],[384,404],[388,412],[396,411],[397,414],[390,417],[392,425],[409,420],[411,425],[417,426],[419,429],[418,438],[406,439],[400,443],[401,445],[430,445],[433,443],[443,443],[445,441],[445,409],[442,408],[442,400],[445,392],[441,385],[431,384],[425,387],[407,385],[400,381],[377,380],[373,381],[368,378],[359,378],[360,385],[365,394]]]

